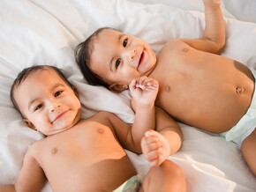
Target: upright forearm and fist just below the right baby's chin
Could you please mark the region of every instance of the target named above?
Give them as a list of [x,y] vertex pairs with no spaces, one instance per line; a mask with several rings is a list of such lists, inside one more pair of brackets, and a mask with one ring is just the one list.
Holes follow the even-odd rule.
[[148,129],[155,129],[154,100],[158,92],[158,82],[143,76],[132,80],[129,89],[132,95],[132,108],[135,120],[131,134],[135,145],[140,147],[141,138]]

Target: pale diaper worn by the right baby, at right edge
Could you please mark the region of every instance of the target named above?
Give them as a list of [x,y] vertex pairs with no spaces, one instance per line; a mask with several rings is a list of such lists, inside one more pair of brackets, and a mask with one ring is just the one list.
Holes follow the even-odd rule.
[[[256,71],[253,68],[250,68],[250,70],[252,70],[252,75],[254,76],[254,79],[256,79]],[[243,141],[245,140],[245,138],[250,136],[252,131],[256,127],[255,89],[256,89],[256,86],[254,82],[254,92],[252,96],[252,102],[246,114],[240,119],[239,122],[237,122],[237,124],[232,129],[221,134],[222,136],[226,137],[227,141],[233,141],[236,144],[239,144],[240,147]]]

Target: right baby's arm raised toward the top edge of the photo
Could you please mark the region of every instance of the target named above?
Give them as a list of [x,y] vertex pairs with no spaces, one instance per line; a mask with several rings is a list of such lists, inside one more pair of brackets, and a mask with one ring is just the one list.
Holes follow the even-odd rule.
[[221,10],[222,0],[203,0],[206,27],[200,39],[183,39],[192,48],[219,54],[225,45],[226,31]]

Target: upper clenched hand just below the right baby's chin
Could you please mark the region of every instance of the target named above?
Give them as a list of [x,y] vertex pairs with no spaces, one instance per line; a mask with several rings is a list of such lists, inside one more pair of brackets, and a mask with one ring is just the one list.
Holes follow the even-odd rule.
[[158,88],[158,82],[153,78],[147,78],[147,76],[143,76],[139,80],[133,79],[129,85],[132,100],[135,104],[145,106],[154,104]]

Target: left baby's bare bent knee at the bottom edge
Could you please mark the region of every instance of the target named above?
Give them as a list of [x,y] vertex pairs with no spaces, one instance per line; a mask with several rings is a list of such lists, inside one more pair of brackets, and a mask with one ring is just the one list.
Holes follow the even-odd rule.
[[152,167],[146,175],[139,192],[184,192],[186,183],[183,169],[170,160]]

